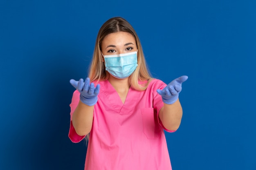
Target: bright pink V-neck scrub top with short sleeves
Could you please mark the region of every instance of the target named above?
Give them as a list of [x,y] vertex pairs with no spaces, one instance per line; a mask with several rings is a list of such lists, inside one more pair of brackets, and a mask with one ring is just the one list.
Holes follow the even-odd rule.
[[[164,103],[157,89],[166,84],[153,79],[145,91],[130,88],[124,104],[108,80],[99,84],[85,170],[171,170],[164,130],[174,131],[165,129],[158,117]],[[85,137],[72,125],[79,95],[74,91],[70,104],[69,137],[74,143]]]

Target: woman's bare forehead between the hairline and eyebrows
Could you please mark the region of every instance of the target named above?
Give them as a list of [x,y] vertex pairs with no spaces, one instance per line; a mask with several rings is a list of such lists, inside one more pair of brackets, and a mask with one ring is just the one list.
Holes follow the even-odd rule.
[[106,37],[102,41],[102,45],[120,43],[126,44],[127,42],[135,42],[134,36],[130,33],[120,31],[117,33],[110,33],[106,35]]

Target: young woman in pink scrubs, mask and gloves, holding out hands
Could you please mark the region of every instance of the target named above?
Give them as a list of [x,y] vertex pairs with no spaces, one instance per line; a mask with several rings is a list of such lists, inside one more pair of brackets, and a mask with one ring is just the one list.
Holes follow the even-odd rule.
[[164,130],[180,126],[187,78],[168,85],[152,78],[132,26],[120,17],[106,21],[88,78],[70,80],[69,137],[76,143],[90,133],[85,170],[171,170]]

